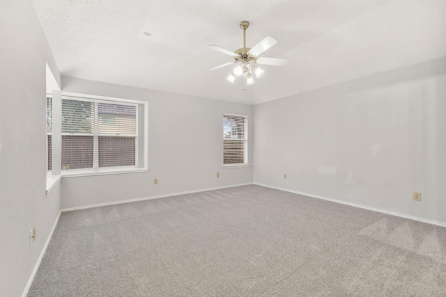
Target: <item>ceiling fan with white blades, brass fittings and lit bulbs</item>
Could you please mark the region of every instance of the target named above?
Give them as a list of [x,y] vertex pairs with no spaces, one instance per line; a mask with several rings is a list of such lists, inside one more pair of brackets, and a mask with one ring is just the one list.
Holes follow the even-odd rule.
[[254,78],[252,77],[253,72],[254,74],[256,74],[257,78],[262,77],[263,74],[265,74],[265,70],[261,69],[261,67],[257,66],[257,64],[283,66],[288,62],[288,59],[259,57],[259,55],[263,53],[263,51],[266,51],[278,42],[270,35],[266,36],[266,38],[263,38],[263,40],[254,45],[254,47],[246,47],[246,29],[248,29],[248,26],[249,22],[240,22],[240,28],[243,29],[242,48],[237,49],[236,51],[229,51],[217,45],[208,46],[211,49],[215,49],[216,51],[220,51],[221,53],[232,56],[234,58],[234,61],[210,68],[208,71],[216,70],[232,64],[238,64],[233,69],[233,72],[229,74],[229,77],[227,77],[226,79],[233,83],[236,80],[236,77],[243,76],[246,79],[246,84],[251,85],[252,83],[254,83]]

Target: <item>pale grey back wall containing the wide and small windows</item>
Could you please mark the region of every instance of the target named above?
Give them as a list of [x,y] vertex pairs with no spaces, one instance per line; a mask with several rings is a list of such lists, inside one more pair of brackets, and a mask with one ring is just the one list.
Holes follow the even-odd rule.
[[[250,105],[72,77],[62,77],[62,90],[148,102],[149,168],[148,172],[139,173],[64,177],[63,209],[252,183],[252,166],[222,168],[223,113],[248,115],[252,136]],[[249,152],[252,165],[252,140]],[[157,185],[153,184],[155,178]]]

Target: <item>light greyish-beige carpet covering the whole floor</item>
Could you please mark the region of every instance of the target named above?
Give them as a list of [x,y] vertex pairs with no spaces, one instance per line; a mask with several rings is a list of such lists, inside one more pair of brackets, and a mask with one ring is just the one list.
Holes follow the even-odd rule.
[[261,186],[68,211],[28,296],[446,296],[446,228]]

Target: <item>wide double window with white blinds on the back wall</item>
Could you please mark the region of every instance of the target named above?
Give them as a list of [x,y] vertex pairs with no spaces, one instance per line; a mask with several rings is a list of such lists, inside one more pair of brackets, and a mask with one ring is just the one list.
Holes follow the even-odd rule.
[[138,106],[63,96],[62,170],[137,168]]

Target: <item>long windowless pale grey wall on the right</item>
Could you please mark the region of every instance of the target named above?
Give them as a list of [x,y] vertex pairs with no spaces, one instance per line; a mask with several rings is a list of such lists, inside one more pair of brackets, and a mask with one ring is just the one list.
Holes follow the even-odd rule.
[[439,58],[256,105],[254,182],[444,224],[445,98]]

